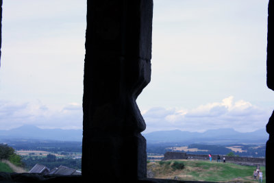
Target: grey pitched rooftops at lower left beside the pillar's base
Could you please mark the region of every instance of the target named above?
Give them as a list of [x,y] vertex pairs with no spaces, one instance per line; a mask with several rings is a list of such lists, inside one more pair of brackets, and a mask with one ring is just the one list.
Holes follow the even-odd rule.
[[58,168],[55,167],[50,171],[42,164],[35,164],[29,173],[41,173],[43,175],[82,175],[81,171],[77,171],[76,169],[71,169],[69,167],[64,167],[62,165],[60,165]]

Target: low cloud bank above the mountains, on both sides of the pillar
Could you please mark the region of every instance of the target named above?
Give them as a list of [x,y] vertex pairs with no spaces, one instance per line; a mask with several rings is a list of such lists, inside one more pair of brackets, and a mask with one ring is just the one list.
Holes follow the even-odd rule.
[[[244,100],[234,101],[234,97],[230,96],[193,109],[157,107],[142,113],[147,123],[147,133],[175,129],[203,132],[226,127],[239,132],[252,132],[265,127],[271,112],[270,108],[259,108]],[[0,100],[0,129],[24,124],[42,128],[82,129],[82,114],[81,103],[53,108],[41,101],[15,103]]]

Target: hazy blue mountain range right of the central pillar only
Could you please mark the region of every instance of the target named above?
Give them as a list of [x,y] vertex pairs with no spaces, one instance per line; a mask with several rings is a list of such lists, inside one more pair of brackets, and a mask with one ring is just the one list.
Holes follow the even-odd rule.
[[179,143],[190,145],[199,144],[262,144],[269,138],[265,129],[255,132],[241,133],[232,128],[222,128],[218,130],[207,130],[206,132],[186,132],[181,130],[158,131],[144,134],[147,143]]

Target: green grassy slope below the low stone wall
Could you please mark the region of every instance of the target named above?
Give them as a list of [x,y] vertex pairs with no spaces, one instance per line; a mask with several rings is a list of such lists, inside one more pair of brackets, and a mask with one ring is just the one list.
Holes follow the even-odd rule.
[[[181,164],[175,166],[174,164]],[[184,168],[182,169],[182,164]],[[201,160],[168,160],[149,162],[147,169],[153,178],[208,181],[208,182],[258,182],[253,180],[256,167]],[[265,167],[260,168],[265,182]],[[150,174],[149,173],[149,174]]]

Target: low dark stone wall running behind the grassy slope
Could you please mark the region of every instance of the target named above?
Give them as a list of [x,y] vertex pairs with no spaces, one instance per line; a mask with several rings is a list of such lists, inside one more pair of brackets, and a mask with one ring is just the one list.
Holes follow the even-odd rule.
[[[264,166],[266,163],[265,158],[251,158],[251,157],[238,157],[238,156],[223,156],[220,155],[221,161],[225,157],[226,162],[235,162],[237,164],[245,165],[261,165]],[[176,159],[188,159],[188,160],[209,160],[208,154],[186,154],[183,152],[166,152],[163,160],[176,160]],[[217,155],[212,155],[212,160],[217,160]]]

